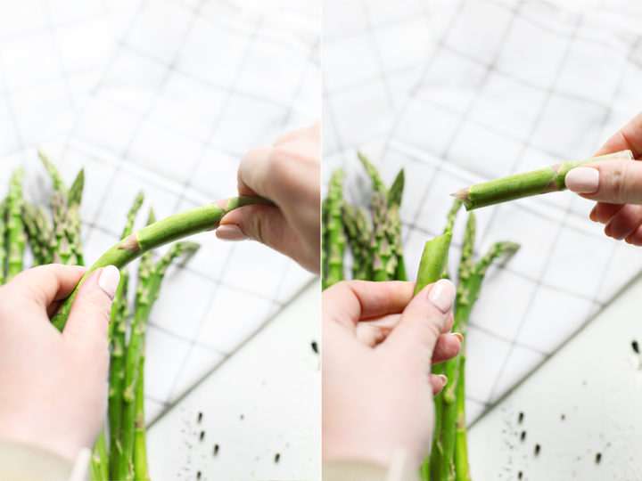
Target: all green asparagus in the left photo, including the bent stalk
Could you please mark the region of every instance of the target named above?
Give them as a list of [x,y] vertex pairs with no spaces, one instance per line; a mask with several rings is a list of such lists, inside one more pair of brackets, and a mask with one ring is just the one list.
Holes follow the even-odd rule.
[[[24,172],[21,168],[15,170],[9,182],[9,193],[0,202],[0,284],[10,281],[25,268],[27,245],[33,255],[33,264],[29,266],[50,263],[84,264],[79,215],[84,172],[81,170],[68,188],[53,163],[42,154],[40,159],[53,183],[51,215],[46,213],[45,208],[32,205],[24,199]],[[177,242],[155,263],[152,249],[193,233],[215,228],[226,212],[234,208],[256,203],[271,204],[259,197],[231,198],[193,208],[159,222],[155,222],[150,210],[147,226],[133,232],[136,213],[143,200],[142,193],[136,196],[128,213],[122,239],[89,268],[78,287],[52,318],[53,325],[62,330],[73,299],[86,277],[106,265],[115,265],[121,269],[119,288],[111,308],[109,330],[111,366],[107,429],[103,428],[91,459],[91,476],[96,481],[149,479],[144,425],[146,326],[169,265],[178,258],[189,257],[199,246],[192,242]],[[141,260],[136,275],[136,299],[131,308],[128,305],[129,274],[126,266],[137,257],[141,257]]]

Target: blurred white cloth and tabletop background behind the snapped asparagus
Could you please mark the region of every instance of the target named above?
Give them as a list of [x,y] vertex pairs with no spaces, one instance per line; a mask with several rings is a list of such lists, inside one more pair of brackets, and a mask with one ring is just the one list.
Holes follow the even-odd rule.
[[[446,222],[449,193],[591,157],[642,110],[640,20],[642,5],[634,1],[326,0],[324,188],[342,167],[346,198],[366,207],[370,181],[357,150],[380,169],[385,183],[404,167],[400,216],[413,278],[424,242]],[[473,423],[492,412],[487,422],[473,424],[473,478],[516,479],[520,470],[523,479],[569,479],[582,472],[585,479],[607,473],[627,478],[623,466],[636,473],[630,478],[638,477],[639,462],[630,455],[639,446],[619,455],[611,448],[595,475],[596,452],[606,449],[609,436],[629,433],[624,439],[631,441],[630,425],[642,425],[637,411],[622,411],[617,422],[616,414],[599,414],[621,403],[622,386],[637,389],[628,393],[632,400],[642,395],[630,346],[642,326],[621,323],[637,319],[638,306],[601,317],[610,323],[608,332],[621,328],[621,337],[613,334],[617,342],[600,338],[604,329],[592,330],[573,356],[555,361],[560,346],[605,311],[642,269],[642,251],[607,238],[589,221],[590,208],[591,202],[563,192],[475,211],[477,256],[497,240],[522,247],[489,271],[468,330],[467,418]],[[451,259],[459,257],[464,224],[460,214]],[[549,358],[555,368],[548,377],[524,382]],[[605,369],[588,369],[588,358],[599,358]],[[556,376],[563,380],[554,384]],[[587,379],[596,390],[582,390]],[[516,405],[508,393],[520,383],[531,388]],[[553,386],[564,393],[552,392]],[[567,422],[567,436],[560,436],[560,414],[572,406],[556,403],[577,407],[589,401],[586,416]],[[528,407],[549,414],[530,422],[550,456],[538,458],[539,471],[523,467],[534,459],[533,432],[522,443],[525,427],[515,426],[517,412]]]

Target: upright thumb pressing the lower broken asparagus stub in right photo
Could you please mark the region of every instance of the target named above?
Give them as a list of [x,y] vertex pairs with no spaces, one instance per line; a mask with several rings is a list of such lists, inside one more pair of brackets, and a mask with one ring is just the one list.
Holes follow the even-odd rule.
[[[455,292],[455,284],[448,279],[441,279],[419,291],[383,344],[418,357],[422,365],[430,369],[432,351],[449,318]],[[421,355],[417,356],[417,352]]]

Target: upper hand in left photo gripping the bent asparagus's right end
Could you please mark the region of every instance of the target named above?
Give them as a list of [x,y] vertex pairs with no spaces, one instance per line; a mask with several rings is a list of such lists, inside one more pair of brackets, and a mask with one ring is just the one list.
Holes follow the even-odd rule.
[[223,240],[253,239],[319,273],[320,148],[318,123],[249,151],[238,169],[239,195],[259,195],[276,208],[246,206],[221,219]]

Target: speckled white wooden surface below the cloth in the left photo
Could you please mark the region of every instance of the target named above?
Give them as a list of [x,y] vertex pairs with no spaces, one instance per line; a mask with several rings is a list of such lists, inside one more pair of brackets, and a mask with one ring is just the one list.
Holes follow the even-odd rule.
[[320,293],[309,284],[152,425],[152,479],[321,478]]

